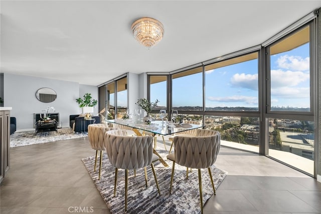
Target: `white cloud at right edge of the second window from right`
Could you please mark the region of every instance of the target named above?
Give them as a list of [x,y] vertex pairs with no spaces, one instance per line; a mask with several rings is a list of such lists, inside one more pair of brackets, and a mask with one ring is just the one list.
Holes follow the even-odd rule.
[[230,80],[232,87],[247,88],[258,90],[258,75],[257,74],[234,74]]

